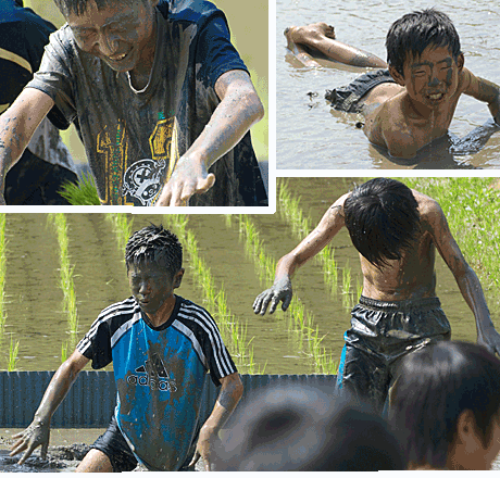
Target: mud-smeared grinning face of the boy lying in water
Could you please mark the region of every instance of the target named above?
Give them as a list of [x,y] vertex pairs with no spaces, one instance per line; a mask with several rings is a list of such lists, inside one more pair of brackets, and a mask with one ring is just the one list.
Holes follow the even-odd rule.
[[[463,54],[454,61],[447,47],[427,47],[418,58],[409,58],[400,83],[412,100],[435,110],[457,92]],[[392,73],[392,72],[391,72]]]

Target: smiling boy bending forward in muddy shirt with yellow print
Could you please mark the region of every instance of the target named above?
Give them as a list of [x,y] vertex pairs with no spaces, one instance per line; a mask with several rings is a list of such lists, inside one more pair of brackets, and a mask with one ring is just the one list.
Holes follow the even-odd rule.
[[78,122],[103,204],[267,205],[249,133],[264,111],[223,12],[203,0],[54,1],[67,23],[0,117],[0,193],[48,116]]

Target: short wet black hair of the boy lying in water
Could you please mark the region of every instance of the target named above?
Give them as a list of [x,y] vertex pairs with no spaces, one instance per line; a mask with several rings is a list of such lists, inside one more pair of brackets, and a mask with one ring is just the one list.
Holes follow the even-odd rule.
[[450,17],[435,9],[408,13],[387,33],[387,63],[403,75],[407,59],[418,58],[428,46],[447,47],[457,62],[460,38]]

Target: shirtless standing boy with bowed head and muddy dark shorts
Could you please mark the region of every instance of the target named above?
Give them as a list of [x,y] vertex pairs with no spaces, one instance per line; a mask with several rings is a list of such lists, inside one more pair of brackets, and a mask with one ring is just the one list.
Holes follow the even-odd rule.
[[464,260],[439,204],[395,179],[375,178],[339,198],[316,228],[277,266],[274,285],[259,294],[255,314],[274,313],[292,298],[291,276],[346,226],[360,254],[363,291],[345,334],[338,383],[382,411],[399,360],[450,338],[436,297],[436,249],[474,313],[477,342],[500,352],[479,280]]

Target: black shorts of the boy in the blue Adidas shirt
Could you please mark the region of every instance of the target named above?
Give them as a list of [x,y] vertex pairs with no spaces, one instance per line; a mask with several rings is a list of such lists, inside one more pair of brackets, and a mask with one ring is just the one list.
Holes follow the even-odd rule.
[[[196,439],[191,444],[190,453],[188,453],[188,457],[180,467],[179,471],[195,470],[193,466],[189,467],[189,463],[191,462],[192,455],[195,454],[198,433],[199,430],[196,433]],[[132,471],[138,465],[138,461],[132,452],[127,441],[123,437],[114,415],[111,418],[111,423],[108,429],[95,441],[91,448],[101,451],[104,453],[104,455],[108,456],[114,473]]]

